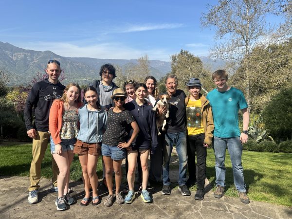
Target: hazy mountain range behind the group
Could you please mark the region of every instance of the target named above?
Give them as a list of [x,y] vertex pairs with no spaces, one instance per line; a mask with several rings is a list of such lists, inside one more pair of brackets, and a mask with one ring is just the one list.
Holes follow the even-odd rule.
[[[224,66],[224,61],[213,60],[208,57],[200,57],[203,64],[211,71]],[[51,51],[26,50],[9,43],[0,41],[0,70],[10,73],[10,86],[29,83],[39,72],[43,73],[50,59],[57,59],[61,63],[61,69],[65,72],[64,84],[74,81],[79,84],[88,84],[93,79],[99,78],[100,67],[105,63],[111,63],[121,67],[124,72],[129,66],[137,65],[137,59],[101,59],[87,57],[64,57]],[[151,75],[160,79],[171,71],[171,62],[149,60]]]

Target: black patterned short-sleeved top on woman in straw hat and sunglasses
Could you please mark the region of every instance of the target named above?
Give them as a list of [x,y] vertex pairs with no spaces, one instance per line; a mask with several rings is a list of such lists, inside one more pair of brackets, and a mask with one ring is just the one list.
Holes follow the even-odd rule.
[[102,143],[108,146],[117,146],[119,142],[126,142],[128,133],[126,127],[135,122],[128,110],[114,112],[109,110],[107,130],[102,137]]

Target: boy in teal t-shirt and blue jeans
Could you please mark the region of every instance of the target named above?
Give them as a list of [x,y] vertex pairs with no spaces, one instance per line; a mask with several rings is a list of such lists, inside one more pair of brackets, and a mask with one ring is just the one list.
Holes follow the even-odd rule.
[[[241,164],[242,143],[248,140],[249,112],[243,93],[227,85],[228,75],[225,70],[213,73],[217,88],[207,94],[214,119],[214,152],[216,158],[216,191],[215,198],[221,198],[225,187],[225,151],[228,148],[232,163],[234,184],[237,188],[240,201],[249,203],[244,183],[243,167]],[[238,110],[243,116],[243,131],[238,126]]]

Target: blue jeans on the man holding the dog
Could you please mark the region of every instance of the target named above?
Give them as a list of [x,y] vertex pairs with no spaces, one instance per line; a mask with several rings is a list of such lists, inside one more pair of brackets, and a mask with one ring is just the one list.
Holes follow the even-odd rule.
[[187,166],[187,149],[186,149],[186,131],[177,133],[165,133],[165,141],[163,145],[163,166],[162,177],[163,184],[170,185],[169,179],[169,161],[173,146],[176,146],[176,151],[179,156],[179,185],[184,185],[186,180]]

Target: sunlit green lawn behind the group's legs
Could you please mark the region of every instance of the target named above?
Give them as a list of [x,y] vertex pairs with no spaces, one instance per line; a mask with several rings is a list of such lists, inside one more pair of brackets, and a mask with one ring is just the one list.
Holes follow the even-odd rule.
[[[3,144],[1,144],[3,145]],[[7,144],[6,144],[7,145]],[[212,149],[208,149],[207,177],[211,184],[215,183],[215,156]],[[0,146],[0,175],[2,176],[29,176],[32,159],[32,145]],[[226,152],[226,187],[225,195],[237,197],[233,184],[230,157]],[[265,201],[274,204],[292,206],[292,154],[243,151],[242,164],[245,183],[251,200]],[[42,162],[41,176],[52,177],[52,162],[48,147]],[[171,168],[176,168],[171,166]],[[98,175],[102,176],[101,159],[98,162]],[[74,157],[71,165],[71,180],[81,178],[81,166],[78,157]],[[191,190],[195,190],[196,186]]]

